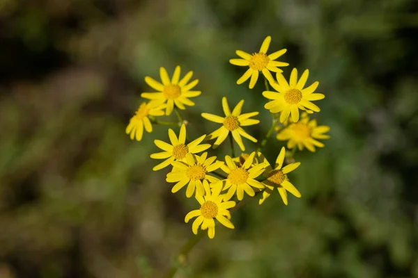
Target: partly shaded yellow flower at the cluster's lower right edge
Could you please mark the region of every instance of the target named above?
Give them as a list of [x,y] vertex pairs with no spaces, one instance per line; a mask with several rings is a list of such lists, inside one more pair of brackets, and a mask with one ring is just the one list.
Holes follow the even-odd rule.
[[267,166],[263,172],[263,176],[266,177],[264,181],[261,181],[263,185],[265,185],[265,190],[263,191],[263,196],[261,197],[258,204],[263,204],[265,199],[267,199],[270,194],[272,194],[274,188],[279,190],[281,199],[283,199],[284,204],[288,204],[287,193],[292,193],[296,197],[300,198],[300,192],[293,186],[293,184],[289,181],[287,174],[292,172],[297,167],[299,167],[300,162],[291,163],[289,165],[281,167],[283,165],[284,156],[285,156],[285,149],[284,147],[281,148],[279,156],[277,156],[276,163],[274,164],[274,168],[268,163],[267,159],[261,154],[258,153],[258,157],[260,157],[260,163],[264,163]]

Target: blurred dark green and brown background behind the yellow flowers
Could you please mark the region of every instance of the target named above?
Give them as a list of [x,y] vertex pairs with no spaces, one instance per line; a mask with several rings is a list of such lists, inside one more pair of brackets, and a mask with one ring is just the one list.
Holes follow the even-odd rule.
[[267,35],[288,49],[285,76],[320,81],[332,138],[297,152],[302,198],[251,200],[177,277],[418,277],[416,0],[0,0],[0,277],[162,277],[197,203],[151,170],[166,126],[125,135],[144,76],[195,72],[191,138],[224,95],[261,111],[261,138],[262,79],[236,85],[228,60]]

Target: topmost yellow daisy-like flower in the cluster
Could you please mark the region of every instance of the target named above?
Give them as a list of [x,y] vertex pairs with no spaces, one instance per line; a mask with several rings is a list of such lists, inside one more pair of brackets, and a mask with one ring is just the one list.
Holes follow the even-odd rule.
[[247,79],[249,79],[249,77],[251,76],[251,80],[249,81],[249,88],[254,88],[254,85],[256,85],[258,79],[259,72],[262,72],[265,78],[268,79],[268,81],[274,82],[273,76],[270,73],[270,71],[283,72],[278,67],[286,67],[289,65],[288,63],[275,61],[277,58],[286,53],[286,49],[281,49],[270,55],[267,55],[268,47],[270,46],[271,40],[272,37],[270,37],[269,35],[267,38],[265,38],[263,44],[261,44],[260,51],[252,55],[241,50],[235,51],[235,53],[242,59],[231,59],[229,60],[229,63],[243,67],[249,67],[247,72],[245,72],[245,74],[243,74],[240,77],[240,79],[238,79],[238,85],[247,81]]

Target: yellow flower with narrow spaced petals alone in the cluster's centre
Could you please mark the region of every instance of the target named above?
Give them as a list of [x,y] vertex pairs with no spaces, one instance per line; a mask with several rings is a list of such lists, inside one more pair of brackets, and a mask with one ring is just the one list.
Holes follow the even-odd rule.
[[222,97],[222,107],[224,108],[225,117],[219,117],[217,115],[212,115],[209,113],[201,114],[202,117],[204,117],[206,120],[222,124],[222,126],[219,127],[219,129],[210,133],[206,138],[207,140],[217,138],[217,140],[213,144],[214,149],[216,149],[219,145],[222,144],[222,142],[224,142],[224,140],[229,134],[229,131],[231,131],[233,139],[235,140],[235,142],[237,142],[238,146],[240,146],[240,149],[242,151],[245,151],[245,146],[242,142],[241,136],[253,142],[257,142],[257,139],[245,132],[245,130],[242,129],[241,126],[251,126],[253,124],[258,124],[260,122],[259,120],[249,119],[249,117],[258,115],[258,112],[241,114],[243,104],[244,100],[242,99],[240,102],[238,102],[237,106],[233,108],[233,111],[231,113],[226,97]]

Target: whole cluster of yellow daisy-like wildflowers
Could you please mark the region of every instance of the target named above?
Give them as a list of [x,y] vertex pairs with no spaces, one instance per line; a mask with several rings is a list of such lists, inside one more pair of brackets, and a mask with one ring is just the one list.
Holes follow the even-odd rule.
[[[177,126],[178,133],[168,129],[168,140],[154,140],[155,146],[161,152],[155,152],[150,157],[162,160],[153,167],[154,171],[170,167],[166,181],[172,183],[171,192],[183,191],[187,198],[194,197],[199,202],[199,209],[190,211],[185,215],[185,222],[196,218],[192,224],[194,234],[198,233],[199,227],[208,230],[209,238],[215,236],[215,220],[227,228],[234,229],[231,222],[231,208],[238,202],[249,197],[259,197],[258,204],[263,204],[277,188],[284,204],[288,204],[288,195],[295,197],[301,194],[291,183],[288,174],[300,166],[295,162],[294,154],[297,149],[302,151],[305,147],[315,152],[315,147],[323,147],[318,141],[330,138],[324,134],[329,131],[328,126],[318,126],[316,120],[310,120],[309,114],[319,112],[320,108],[311,101],[323,99],[325,96],[316,93],[318,81],[307,88],[309,71],[305,70],[297,79],[297,70],[293,69],[290,79],[287,81],[281,74],[279,67],[285,67],[288,63],[279,62],[276,59],[286,53],[286,49],[275,51],[268,55],[270,36],[265,38],[261,48],[254,54],[244,51],[236,51],[240,58],[230,60],[233,65],[248,66],[245,74],[238,79],[241,84],[247,79],[249,88],[254,88],[258,81],[259,72],[265,77],[266,90],[262,95],[269,99],[265,108],[272,114],[272,127],[265,138],[256,138],[245,131],[246,126],[256,125],[260,120],[255,119],[258,111],[245,111],[244,99],[231,109],[226,97],[222,97],[223,116],[211,113],[201,113],[201,117],[211,122],[220,124],[220,127],[208,135],[201,134],[196,138],[189,138],[187,129],[196,130],[194,122],[183,120],[180,111],[186,106],[194,106],[189,98],[198,97],[201,91],[192,90],[199,80],[190,81],[193,72],[188,72],[180,79],[180,66],[177,66],[171,79],[164,67],[160,68],[162,83],[146,76],[146,83],[157,92],[143,92],[141,97],[149,99],[148,103],[140,104],[138,111],[127,125],[126,133],[132,140],[140,141],[144,129],[150,133],[153,124],[160,126]],[[271,72],[276,73],[274,79]],[[275,90],[270,90],[269,85]],[[176,113],[178,122],[161,122],[157,117],[169,116]],[[277,132],[279,141],[287,141],[285,147],[276,149],[277,158],[269,163],[263,154],[265,142],[272,132]],[[226,138],[230,138],[231,156],[210,156],[210,147],[217,149]],[[242,140],[245,138],[247,140]],[[214,140],[214,141],[213,141]],[[244,152],[247,148],[254,149],[251,153],[242,153],[235,156],[233,141]],[[249,143],[251,142],[251,143]],[[247,148],[246,148],[247,146]],[[212,151],[213,152],[213,151]],[[278,153],[278,154],[277,154]],[[293,159],[286,159],[293,158]],[[284,162],[287,165],[284,165]],[[184,188],[184,189],[183,189]],[[246,197],[247,196],[247,197]]]

